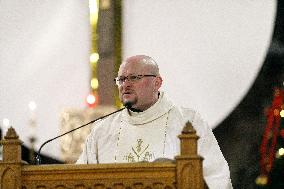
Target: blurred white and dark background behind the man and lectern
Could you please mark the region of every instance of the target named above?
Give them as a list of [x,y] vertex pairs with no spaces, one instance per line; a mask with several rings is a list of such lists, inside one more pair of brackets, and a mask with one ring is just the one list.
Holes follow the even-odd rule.
[[[14,127],[33,164],[120,108],[119,65],[146,54],[213,129],[234,188],[283,189],[283,30],[280,0],[1,0],[1,137]],[[43,163],[74,163],[90,129]]]

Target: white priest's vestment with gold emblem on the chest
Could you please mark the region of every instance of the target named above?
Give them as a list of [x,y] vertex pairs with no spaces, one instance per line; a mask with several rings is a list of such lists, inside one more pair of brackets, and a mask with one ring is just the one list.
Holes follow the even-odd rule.
[[180,140],[177,136],[188,121],[200,137],[198,154],[204,158],[203,175],[208,187],[232,188],[228,164],[207,123],[196,111],[174,105],[163,92],[159,100],[143,112],[124,109],[95,122],[77,163],[174,159],[180,154]]

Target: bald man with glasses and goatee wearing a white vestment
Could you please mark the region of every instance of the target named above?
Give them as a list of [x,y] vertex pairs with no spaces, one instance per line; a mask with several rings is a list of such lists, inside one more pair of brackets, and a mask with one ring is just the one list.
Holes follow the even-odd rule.
[[163,79],[149,56],[126,59],[115,78],[126,109],[94,123],[77,163],[152,162],[180,154],[178,135],[186,122],[195,128],[198,154],[209,188],[232,188],[229,167],[212,130],[191,109],[176,106],[160,91]]

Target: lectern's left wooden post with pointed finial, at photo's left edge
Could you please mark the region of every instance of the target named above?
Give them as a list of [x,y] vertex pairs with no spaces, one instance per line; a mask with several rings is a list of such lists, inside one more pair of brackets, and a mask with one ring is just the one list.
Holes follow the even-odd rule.
[[3,145],[3,160],[0,161],[0,188],[19,189],[21,188],[21,144],[22,141],[15,130],[8,129]]

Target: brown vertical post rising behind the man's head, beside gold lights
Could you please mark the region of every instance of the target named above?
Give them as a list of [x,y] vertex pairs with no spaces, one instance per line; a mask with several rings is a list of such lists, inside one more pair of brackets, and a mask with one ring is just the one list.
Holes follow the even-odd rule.
[[100,59],[97,65],[100,105],[116,104],[117,76],[121,62],[121,1],[100,0],[97,25],[97,47]]

